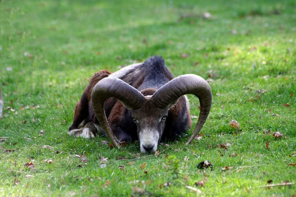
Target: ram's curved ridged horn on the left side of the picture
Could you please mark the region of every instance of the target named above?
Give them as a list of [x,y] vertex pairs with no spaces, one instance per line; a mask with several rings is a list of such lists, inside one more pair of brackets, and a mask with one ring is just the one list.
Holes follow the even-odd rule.
[[104,78],[92,89],[91,103],[96,118],[100,123],[100,129],[118,147],[118,140],[111,131],[104,110],[105,100],[111,97],[118,99],[128,109],[140,108],[146,98],[137,89],[118,78]]

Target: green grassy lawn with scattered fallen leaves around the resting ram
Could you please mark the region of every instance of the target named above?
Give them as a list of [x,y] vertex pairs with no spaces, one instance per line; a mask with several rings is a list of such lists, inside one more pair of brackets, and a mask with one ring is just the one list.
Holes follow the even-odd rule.
[[[148,155],[67,134],[94,72],[153,55],[209,81],[200,139]],[[1,0],[0,86],[0,196],[296,195],[295,0]]]

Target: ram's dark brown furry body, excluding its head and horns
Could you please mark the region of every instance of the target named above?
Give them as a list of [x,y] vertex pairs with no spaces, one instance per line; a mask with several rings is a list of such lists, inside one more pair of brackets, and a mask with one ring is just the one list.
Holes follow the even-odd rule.
[[[95,128],[92,126],[92,123],[96,125],[98,122],[90,102],[91,91],[97,82],[105,77],[119,78],[139,90],[146,97],[151,97],[157,89],[174,78],[165,66],[163,59],[157,56],[148,59],[148,61],[142,64],[126,66],[112,74],[108,70],[98,71],[91,78],[90,83],[75,107],[74,122],[69,128],[69,132],[73,135],[84,137],[96,135],[99,127]],[[138,139],[137,126],[134,123],[131,111],[118,99],[109,98],[105,101],[105,113],[111,131],[118,140]],[[168,112],[161,139],[174,139],[190,127],[189,102],[186,96],[182,96]]]

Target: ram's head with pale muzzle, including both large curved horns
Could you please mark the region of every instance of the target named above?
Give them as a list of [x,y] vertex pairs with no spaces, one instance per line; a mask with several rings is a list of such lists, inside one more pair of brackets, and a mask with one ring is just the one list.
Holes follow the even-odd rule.
[[119,142],[108,125],[104,102],[106,99],[113,97],[131,110],[132,118],[137,125],[141,151],[146,153],[157,149],[169,109],[177,103],[180,97],[187,94],[195,95],[200,101],[198,122],[186,143],[188,144],[203,127],[211,109],[211,88],[200,76],[194,74],[181,75],[155,90],[152,96],[147,97],[124,81],[108,77],[99,81],[93,88],[91,102],[100,123],[100,130],[106,132],[116,146],[118,146]]

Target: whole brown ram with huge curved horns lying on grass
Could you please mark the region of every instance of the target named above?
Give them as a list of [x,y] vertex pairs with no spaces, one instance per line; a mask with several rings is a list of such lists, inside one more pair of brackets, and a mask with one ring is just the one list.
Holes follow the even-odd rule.
[[74,112],[70,135],[107,134],[114,145],[140,140],[143,153],[153,152],[162,139],[174,139],[191,127],[186,94],[200,100],[200,115],[188,143],[203,127],[212,103],[209,84],[200,76],[173,77],[161,57],[94,74]]

